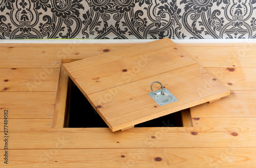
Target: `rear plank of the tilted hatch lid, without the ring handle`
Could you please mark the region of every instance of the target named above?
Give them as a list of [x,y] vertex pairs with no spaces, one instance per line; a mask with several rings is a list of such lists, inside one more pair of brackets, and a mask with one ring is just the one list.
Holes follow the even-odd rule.
[[[107,58],[104,55],[104,57],[93,57],[94,60],[75,61],[65,64],[64,67],[77,85],[86,83],[82,86],[82,90],[86,90],[86,94],[91,94],[196,64],[190,57],[181,57],[184,54],[182,51],[166,49],[166,47],[174,47],[173,42],[166,40],[159,42],[147,44],[148,46],[140,44],[140,47],[133,50],[113,52]],[[157,68],[156,65],[161,65],[161,68]]]

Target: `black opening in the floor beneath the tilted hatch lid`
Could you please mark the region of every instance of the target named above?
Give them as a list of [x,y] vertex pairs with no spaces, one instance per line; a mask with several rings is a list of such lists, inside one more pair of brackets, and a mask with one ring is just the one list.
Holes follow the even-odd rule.
[[[89,101],[84,97],[78,87],[70,82],[68,95],[70,99],[70,128],[104,128],[108,127]],[[135,127],[182,127],[181,113],[175,112],[151,121],[147,121]]]

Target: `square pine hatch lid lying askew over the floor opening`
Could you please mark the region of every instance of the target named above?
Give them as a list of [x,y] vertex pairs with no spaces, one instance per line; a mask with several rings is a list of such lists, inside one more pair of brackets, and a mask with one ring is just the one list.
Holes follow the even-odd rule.
[[[112,131],[230,94],[168,38],[110,50],[63,67]],[[177,101],[159,105],[148,94],[154,81],[161,82]],[[160,84],[153,85],[153,90],[160,89]]]

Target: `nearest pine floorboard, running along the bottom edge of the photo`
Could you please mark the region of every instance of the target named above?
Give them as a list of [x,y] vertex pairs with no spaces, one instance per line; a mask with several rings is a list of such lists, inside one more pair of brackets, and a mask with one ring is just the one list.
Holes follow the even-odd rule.
[[[61,146],[60,146],[61,147]],[[3,150],[0,150],[3,153]],[[9,150],[9,165],[35,167],[255,167],[256,148]],[[24,155],[26,159],[24,159]],[[0,167],[6,165],[0,163]]]

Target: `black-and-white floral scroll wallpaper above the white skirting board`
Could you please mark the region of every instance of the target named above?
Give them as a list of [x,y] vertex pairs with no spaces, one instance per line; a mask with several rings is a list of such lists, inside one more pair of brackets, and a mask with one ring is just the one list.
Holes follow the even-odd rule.
[[256,0],[0,0],[0,39],[256,38]]

